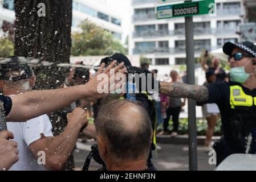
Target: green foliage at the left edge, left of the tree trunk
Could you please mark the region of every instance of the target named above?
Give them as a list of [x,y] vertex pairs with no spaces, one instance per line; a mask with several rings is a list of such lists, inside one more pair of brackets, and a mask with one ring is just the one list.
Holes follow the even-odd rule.
[[6,37],[0,38],[0,57],[14,55],[14,44]]

